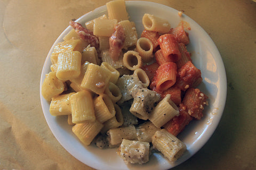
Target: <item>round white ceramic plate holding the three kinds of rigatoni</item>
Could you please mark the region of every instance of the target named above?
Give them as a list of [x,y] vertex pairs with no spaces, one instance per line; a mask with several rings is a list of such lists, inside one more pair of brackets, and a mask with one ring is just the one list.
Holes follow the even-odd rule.
[[[138,35],[143,30],[142,16],[145,13],[154,14],[168,20],[172,27],[177,27],[180,21],[189,23],[190,44],[187,49],[192,52],[192,60],[195,66],[201,70],[203,82],[198,87],[209,96],[209,106],[204,110],[204,117],[200,121],[191,122],[186,129],[178,135],[178,138],[187,145],[187,151],[177,162],[171,163],[161,154],[154,153],[150,156],[150,162],[144,165],[125,165],[123,160],[116,154],[116,149],[101,150],[94,146],[84,146],[71,131],[66,117],[54,117],[49,113],[49,105],[41,94],[41,103],[45,119],[60,144],[75,158],[82,163],[96,169],[169,169],[177,166],[193,156],[203,147],[211,137],[220,121],[227,94],[226,72],[217,47],[209,35],[192,19],[185,14],[180,17],[178,11],[171,7],[142,1],[126,1],[127,12],[130,20],[134,21]],[[77,22],[84,24],[103,14],[107,14],[106,6],[101,6],[92,12],[83,15]],[[69,21],[67,21],[68,23]],[[42,70],[40,92],[45,74],[50,72],[50,55],[54,46],[63,41],[62,38],[71,30],[68,27],[53,44]]]

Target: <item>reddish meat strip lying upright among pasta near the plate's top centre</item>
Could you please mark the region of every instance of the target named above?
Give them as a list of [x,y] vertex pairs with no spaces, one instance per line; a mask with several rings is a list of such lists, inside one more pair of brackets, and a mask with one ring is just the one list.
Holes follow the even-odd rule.
[[109,55],[112,60],[117,61],[124,46],[125,33],[120,24],[116,24],[114,30],[115,32],[109,38]]

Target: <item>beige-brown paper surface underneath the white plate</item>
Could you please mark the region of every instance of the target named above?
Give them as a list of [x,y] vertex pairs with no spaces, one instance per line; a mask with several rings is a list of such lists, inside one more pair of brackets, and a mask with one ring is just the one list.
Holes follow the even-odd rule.
[[[39,99],[47,53],[71,19],[108,1],[0,0],[0,169],[93,169],[54,138]],[[228,96],[217,130],[173,169],[256,166],[256,3],[152,1],[187,14],[209,33],[226,67]]]

